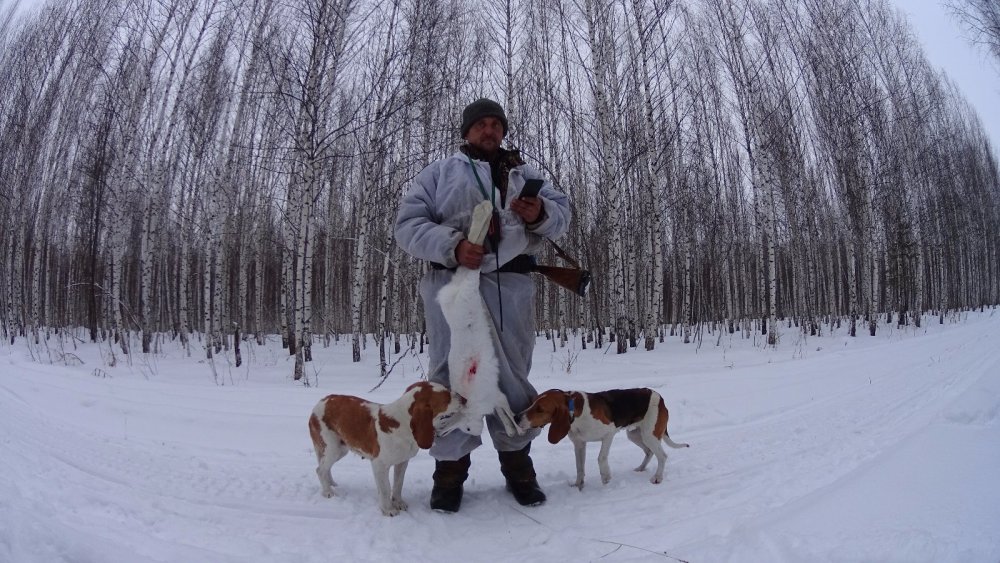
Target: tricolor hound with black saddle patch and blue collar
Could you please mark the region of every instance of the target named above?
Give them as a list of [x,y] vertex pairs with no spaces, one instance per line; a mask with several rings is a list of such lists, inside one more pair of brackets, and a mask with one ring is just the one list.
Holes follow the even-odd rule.
[[649,460],[656,456],[656,473],[649,480],[653,484],[663,481],[663,465],[667,459],[660,441],[672,448],[688,447],[688,444],[678,444],[670,439],[667,434],[669,413],[663,404],[663,397],[645,387],[600,393],[549,389],[517,418],[518,427],[522,430],[551,424],[549,442],[553,444],[569,435],[576,453],[576,482],[573,485],[580,490],[583,490],[587,442],[601,442],[597,464],[601,470],[601,482],[607,484],[611,481],[608,451],[615,434],[622,428],[628,429],[628,439],[646,454],[636,471],[645,471]]

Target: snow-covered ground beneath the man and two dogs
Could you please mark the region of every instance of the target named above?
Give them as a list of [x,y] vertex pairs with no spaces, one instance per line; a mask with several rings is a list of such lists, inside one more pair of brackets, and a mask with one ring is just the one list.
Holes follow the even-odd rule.
[[330,393],[392,400],[426,358],[370,392],[371,345],[361,364],[346,342],[317,346],[305,388],[276,342],[245,348],[241,368],[219,361],[224,385],[173,345],[109,367],[106,346],[45,364],[30,355],[56,357],[54,340],[0,344],[0,561],[1000,561],[1000,313],[874,338],[782,332],[774,350],[706,334],[622,356],[539,339],[539,390],[664,396],[691,444],[668,449],[664,483],[632,471],[641,454],[619,436],[611,483],[592,444],[578,491],[571,444],[543,435],[545,505],[514,502],[486,445],[461,512],[427,507],[421,452],[395,518],[356,456],[320,496],[306,420]]

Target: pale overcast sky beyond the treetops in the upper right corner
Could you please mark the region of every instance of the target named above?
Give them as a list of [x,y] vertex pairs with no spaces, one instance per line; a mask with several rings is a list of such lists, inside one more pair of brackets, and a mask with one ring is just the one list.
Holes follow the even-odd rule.
[[[0,0],[0,7],[14,0]],[[1000,157],[1000,67],[979,49],[969,45],[962,29],[945,10],[942,0],[891,0],[904,11],[927,58],[955,81],[975,106]],[[41,5],[44,0],[22,0],[21,7]]]

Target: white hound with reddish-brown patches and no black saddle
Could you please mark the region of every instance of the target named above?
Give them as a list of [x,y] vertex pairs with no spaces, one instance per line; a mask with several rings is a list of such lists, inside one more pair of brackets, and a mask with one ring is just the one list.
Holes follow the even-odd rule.
[[[385,405],[349,395],[329,395],[309,416],[309,435],[316,449],[316,475],[323,496],[336,486],[330,468],[348,451],[370,459],[382,514],[406,510],[403,477],[417,449],[428,449],[434,435],[462,406],[462,399],[443,385],[421,381],[406,388],[399,399]],[[395,480],[389,489],[389,468]]]

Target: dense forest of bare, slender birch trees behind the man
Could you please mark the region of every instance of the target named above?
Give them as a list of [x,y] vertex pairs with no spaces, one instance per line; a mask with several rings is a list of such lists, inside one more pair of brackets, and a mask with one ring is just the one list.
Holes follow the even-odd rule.
[[423,345],[398,200],[481,96],[593,272],[537,276],[553,347],[1000,302],[997,149],[883,0],[0,0],[0,92],[11,341],[384,370]]

